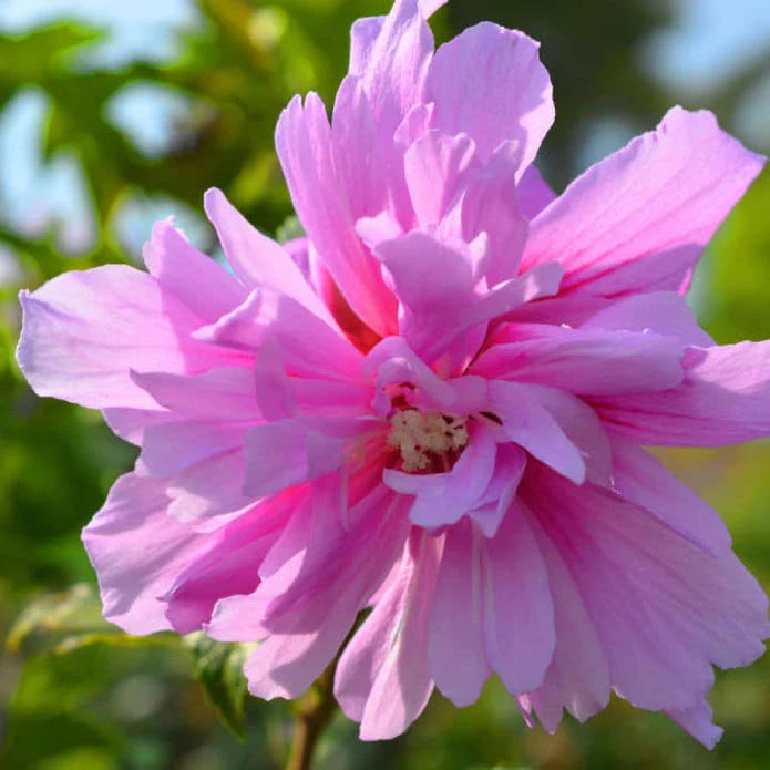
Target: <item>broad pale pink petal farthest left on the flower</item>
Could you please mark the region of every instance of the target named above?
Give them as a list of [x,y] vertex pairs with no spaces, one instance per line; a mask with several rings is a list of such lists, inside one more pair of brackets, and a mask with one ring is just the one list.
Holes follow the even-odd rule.
[[104,409],[156,409],[130,370],[194,373],[227,351],[191,338],[202,321],[146,273],[107,265],[22,291],[17,358],[39,396]]

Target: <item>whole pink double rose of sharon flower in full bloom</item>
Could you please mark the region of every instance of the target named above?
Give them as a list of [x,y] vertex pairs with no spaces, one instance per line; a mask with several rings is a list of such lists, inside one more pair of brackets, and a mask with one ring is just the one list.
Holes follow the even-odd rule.
[[35,391],[142,448],[84,532],[104,614],[260,640],[263,698],[356,628],[335,692],[365,739],[496,674],[527,723],[615,690],[711,747],[712,666],[762,654],[768,603],[640,444],[770,433],[770,342],[718,347],[682,299],[763,160],[677,107],[555,197],[537,44],[482,23],[434,52],[440,4],[358,21],[331,121],[281,115],[307,239],[209,191],[232,274],[162,222],[148,273],[22,295]]

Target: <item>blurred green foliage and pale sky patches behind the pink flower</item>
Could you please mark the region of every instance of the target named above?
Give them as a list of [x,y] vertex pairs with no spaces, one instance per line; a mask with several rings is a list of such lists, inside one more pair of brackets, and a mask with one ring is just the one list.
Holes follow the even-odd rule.
[[[50,12],[19,22],[11,11],[23,3]],[[134,452],[97,414],[30,392],[13,361],[16,295],[63,270],[135,263],[152,220],[172,212],[216,256],[201,216],[212,185],[276,230],[290,214],[273,151],[277,115],[311,89],[331,104],[350,23],[388,4],[134,0],[111,24],[113,4],[99,0],[0,3],[0,767],[237,770],[285,759],[289,709],[245,696],[243,649],[199,635],[132,639],[101,619],[79,531]],[[161,23],[161,7],[178,11],[174,23]],[[716,27],[711,18],[711,48],[696,8],[721,14]],[[762,8],[761,0],[454,0],[433,27],[445,40],[490,19],[542,41],[557,106],[542,165],[561,189],[676,102],[712,109],[753,150],[770,151]],[[126,39],[141,44],[126,48]],[[691,47],[685,58],[682,47]],[[712,49],[720,58],[711,65]],[[766,172],[696,276],[692,301],[720,342],[770,337],[769,213]],[[770,446],[665,459],[725,514],[739,555],[770,587]],[[466,710],[434,697],[417,726],[388,743],[359,743],[339,716],[318,767],[762,768],[769,682],[767,659],[718,677],[712,704],[727,733],[711,753],[659,715],[619,701],[587,726],[566,719],[553,737],[527,731],[492,682]]]

